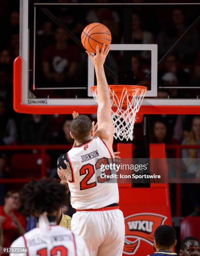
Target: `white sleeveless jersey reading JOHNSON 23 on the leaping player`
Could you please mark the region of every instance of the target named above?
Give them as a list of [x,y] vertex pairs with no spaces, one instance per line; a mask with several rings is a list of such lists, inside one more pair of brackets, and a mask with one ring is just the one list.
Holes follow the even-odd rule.
[[[112,154],[98,137],[73,147],[59,157],[57,167],[67,177],[73,208],[98,209],[119,202],[117,183],[100,179],[101,164],[109,164],[110,159]],[[99,176],[96,177],[96,174]],[[102,183],[96,182],[96,179]]]

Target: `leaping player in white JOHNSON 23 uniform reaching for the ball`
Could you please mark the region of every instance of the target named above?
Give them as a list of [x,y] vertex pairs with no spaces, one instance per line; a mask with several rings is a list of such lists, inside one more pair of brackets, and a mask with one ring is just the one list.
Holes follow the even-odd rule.
[[[71,204],[77,210],[72,216],[71,230],[84,238],[91,256],[121,256],[125,238],[117,183],[106,183],[99,176],[96,180],[100,165],[109,164],[114,158],[110,92],[103,68],[108,52],[109,47],[105,45],[101,52],[97,46],[95,56],[87,52],[97,77],[98,129],[95,137],[90,118],[77,116],[72,120],[70,131],[75,146],[57,162],[58,175],[68,183]],[[106,174],[110,174],[110,170]]]

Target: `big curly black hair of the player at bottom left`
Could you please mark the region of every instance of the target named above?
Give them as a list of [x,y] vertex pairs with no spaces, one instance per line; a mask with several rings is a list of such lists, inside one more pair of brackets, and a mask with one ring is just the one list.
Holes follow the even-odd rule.
[[43,212],[51,214],[59,210],[62,204],[67,204],[67,200],[65,185],[55,179],[32,180],[21,192],[21,201],[30,215],[41,215]]

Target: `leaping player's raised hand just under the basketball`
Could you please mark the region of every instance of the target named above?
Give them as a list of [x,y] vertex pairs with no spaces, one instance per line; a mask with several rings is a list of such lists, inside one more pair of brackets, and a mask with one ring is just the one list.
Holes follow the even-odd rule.
[[96,46],[96,55],[92,55],[89,51],[86,51],[86,53],[90,56],[90,59],[92,60],[95,67],[101,67],[105,62],[105,58],[109,53],[109,50],[110,47],[108,45],[105,47],[105,44],[103,44],[101,52],[99,52],[99,46]]

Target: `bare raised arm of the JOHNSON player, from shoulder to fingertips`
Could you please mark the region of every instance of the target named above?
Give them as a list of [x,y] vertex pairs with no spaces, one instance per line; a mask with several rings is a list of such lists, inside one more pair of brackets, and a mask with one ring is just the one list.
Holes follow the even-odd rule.
[[113,123],[110,110],[110,92],[105,77],[103,64],[110,48],[105,44],[99,52],[99,46],[96,47],[96,55],[93,56],[90,52],[86,51],[90,56],[94,66],[97,77],[97,95],[98,95],[98,109],[97,109],[97,122],[98,129],[95,136],[100,137],[109,148],[112,148],[113,142]]

